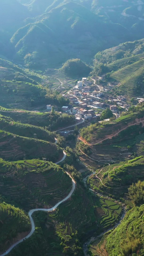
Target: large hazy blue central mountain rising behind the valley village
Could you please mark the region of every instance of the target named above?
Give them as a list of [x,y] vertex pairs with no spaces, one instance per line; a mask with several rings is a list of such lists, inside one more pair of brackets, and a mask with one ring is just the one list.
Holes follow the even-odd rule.
[[64,1],[20,28],[11,42],[17,60],[24,58],[27,66],[46,68],[60,67],[71,58],[89,62],[97,51],[131,36],[120,24],[106,23],[84,6]]

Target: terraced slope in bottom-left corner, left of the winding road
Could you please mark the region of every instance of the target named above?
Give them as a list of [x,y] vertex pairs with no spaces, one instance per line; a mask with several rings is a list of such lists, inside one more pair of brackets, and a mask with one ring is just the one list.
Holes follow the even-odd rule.
[[[1,201],[1,200],[0,200]],[[30,221],[23,210],[0,202],[0,253],[30,231]]]

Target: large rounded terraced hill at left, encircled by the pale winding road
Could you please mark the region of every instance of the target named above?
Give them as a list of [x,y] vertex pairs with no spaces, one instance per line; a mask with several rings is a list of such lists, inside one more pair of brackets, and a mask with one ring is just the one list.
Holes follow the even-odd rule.
[[71,189],[71,178],[51,162],[0,160],[0,195],[26,211],[52,207]]

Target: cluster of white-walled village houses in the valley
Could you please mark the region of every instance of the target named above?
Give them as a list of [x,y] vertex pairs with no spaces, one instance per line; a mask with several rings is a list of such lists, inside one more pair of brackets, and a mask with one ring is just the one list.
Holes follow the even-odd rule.
[[[124,96],[117,96],[114,98],[109,94],[109,88],[114,85],[108,83],[107,86],[102,86],[104,77],[97,77],[96,79],[88,79],[83,77],[72,87],[64,98],[69,98],[70,104],[62,106],[61,112],[75,116],[76,124],[84,121],[100,122],[101,113],[107,108],[110,109],[113,115],[118,118],[122,111],[128,111],[130,104]],[[144,102],[144,98],[134,99],[136,104]],[[47,111],[51,111],[52,106],[47,105]]]

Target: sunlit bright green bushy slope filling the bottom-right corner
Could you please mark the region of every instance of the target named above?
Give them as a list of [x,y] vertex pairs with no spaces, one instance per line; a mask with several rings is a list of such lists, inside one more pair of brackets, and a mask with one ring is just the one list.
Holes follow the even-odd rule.
[[97,256],[101,253],[105,256],[143,255],[144,205],[132,208],[113,232],[105,236],[100,244],[92,244],[90,249]]

